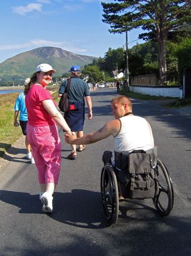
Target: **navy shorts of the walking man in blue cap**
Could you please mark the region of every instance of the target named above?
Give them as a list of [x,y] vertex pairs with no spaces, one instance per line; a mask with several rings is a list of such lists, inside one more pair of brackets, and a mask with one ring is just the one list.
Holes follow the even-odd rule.
[[83,131],[84,126],[84,106],[79,109],[69,110],[64,113],[64,119],[72,132]]

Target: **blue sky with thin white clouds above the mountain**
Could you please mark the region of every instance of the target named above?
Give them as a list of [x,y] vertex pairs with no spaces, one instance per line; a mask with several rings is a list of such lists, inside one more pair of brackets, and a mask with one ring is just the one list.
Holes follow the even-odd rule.
[[[101,58],[125,47],[125,34],[108,32],[102,15],[101,0],[1,0],[0,63],[42,46]],[[128,32],[128,48],[143,42],[140,32]]]

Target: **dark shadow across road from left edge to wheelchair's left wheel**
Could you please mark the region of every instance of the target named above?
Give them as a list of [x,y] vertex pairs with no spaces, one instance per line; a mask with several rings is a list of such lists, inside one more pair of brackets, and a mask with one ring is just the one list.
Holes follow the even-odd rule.
[[[20,208],[21,214],[45,214],[39,195],[0,190],[0,200]],[[65,193],[55,192],[53,207],[53,213],[47,215],[64,224],[90,229],[108,227],[99,192],[84,189],[73,189]]]

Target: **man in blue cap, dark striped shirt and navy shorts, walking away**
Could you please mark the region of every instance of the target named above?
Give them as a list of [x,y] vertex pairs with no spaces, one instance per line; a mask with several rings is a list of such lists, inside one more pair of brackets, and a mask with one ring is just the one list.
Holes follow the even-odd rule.
[[[72,132],[76,132],[77,138],[83,137],[83,125],[85,119],[85,101],[88,107],[88,119],[92,118],[92,103],[90,97],[90,89],[88,84],[80,79],[81,70],[79,66],[73,66],[70,68],[70,89],[68,92],[69,104],[73,107],[69,111],[64,113],[64,119],[69,125]],[[67,80],[59,88],[59,97],[61,97],[67,87]],[[77,158],[76,145],[71,145],[71,154],[67,156],[67,159],[74,160]],[[85,149],[84,144],[79,144],[78,151],[81,152]]]

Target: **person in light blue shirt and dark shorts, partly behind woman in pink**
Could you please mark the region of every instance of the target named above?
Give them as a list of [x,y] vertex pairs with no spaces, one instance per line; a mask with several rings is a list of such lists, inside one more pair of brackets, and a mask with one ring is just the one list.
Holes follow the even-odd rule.
[[[25,86],[28,85],[30,81],[30,78],[25,79]],[[13,125],[15,127],[18,127],[19,124],[21,125],[22,133],[25,135],[25,146],[26,146],[26,158],[30,159],[31,164],[35,164],[35,160],[32,157],[32,151],[30,144],[28,142],[28,137],[26,133],[26,124],[28,122],[28,114],[26,111],[26,106],[25,106],[25,94],[22,92],[19,94],[18,98],[15,101],[15,112],[14,112],[14,121]],[[20,113],[20,114],[19,114]],[[18,122],[18,116],[19,116],[19,122]]]

